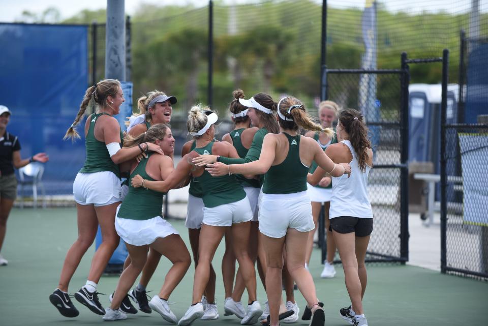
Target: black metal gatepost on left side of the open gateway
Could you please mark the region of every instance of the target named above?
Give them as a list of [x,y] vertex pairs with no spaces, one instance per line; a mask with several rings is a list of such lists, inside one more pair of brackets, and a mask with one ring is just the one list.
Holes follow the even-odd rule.
[[400,153],[400,161],[404,165],[400,170],[400,256],[408,261],[409,249],[408,241],[410,234],[408,231],[408,85],[410,83],[409,67],[406,63],[407,53],[403,52],[401,56],[402,64],[402,107],[401,107],[401,143],[402,150]]

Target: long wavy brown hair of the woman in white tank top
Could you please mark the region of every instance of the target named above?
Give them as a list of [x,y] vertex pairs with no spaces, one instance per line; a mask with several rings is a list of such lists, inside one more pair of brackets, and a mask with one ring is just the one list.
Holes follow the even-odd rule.
[[368,127],[364,124],[364,116],[357,110],[344,109],[339,111],[339,122],[349,134],[349,141],[356,152],[359,167],[365,171],[371,141],[368,138]]

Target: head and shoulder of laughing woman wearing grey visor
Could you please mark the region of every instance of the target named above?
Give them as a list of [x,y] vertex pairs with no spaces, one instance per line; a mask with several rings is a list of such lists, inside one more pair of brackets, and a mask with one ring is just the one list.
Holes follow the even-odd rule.
[[164,92],[153,91],[137,99],[139,114],[129,117],[127,133],[131,136],[139,136],[156,124],[169,124],[172,105],[176,104],[174,96],[168,96]]

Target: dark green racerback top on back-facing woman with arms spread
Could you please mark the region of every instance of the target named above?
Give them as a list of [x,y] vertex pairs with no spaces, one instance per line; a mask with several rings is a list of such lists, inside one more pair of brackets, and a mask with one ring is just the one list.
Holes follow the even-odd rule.
[[291,194],[307,190],[307,173],[310,166],[305,166],[300,160],[300,134],[288,138],[289,148],[285,160],[272,165],[264,176],[263,193]]

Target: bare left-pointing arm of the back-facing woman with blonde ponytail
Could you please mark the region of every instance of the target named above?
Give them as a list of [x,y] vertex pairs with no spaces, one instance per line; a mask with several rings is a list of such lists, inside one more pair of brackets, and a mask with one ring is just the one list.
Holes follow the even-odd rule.
[[210,164],[205,168],[212,176],[220,176],[228,173],[238,174],[264,174],[275,161],[276,156],[276,137],[274,134],[268,134],[264,137],[261,155],[259,160],[227,165],[222,162]]

